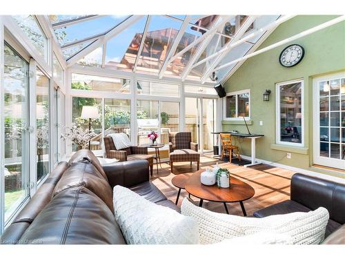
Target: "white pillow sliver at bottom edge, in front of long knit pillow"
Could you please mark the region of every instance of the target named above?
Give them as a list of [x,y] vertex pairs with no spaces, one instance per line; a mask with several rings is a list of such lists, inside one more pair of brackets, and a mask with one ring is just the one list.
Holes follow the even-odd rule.
[[217,243],[221,245],[235,244],[293,244],[293,238],[287,234],[259,232],[248,236],[224,239]]

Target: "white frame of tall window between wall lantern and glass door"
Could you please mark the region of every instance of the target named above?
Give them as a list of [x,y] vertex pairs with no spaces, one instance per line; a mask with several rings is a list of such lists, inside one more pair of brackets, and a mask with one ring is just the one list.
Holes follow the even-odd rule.
[[[301,83],[301,134],[302,134],[302,143],[293,143],[293,142],[284,142],[280,140],[280,86],[285,86],[286,84],[297,84]],[[276,144],[284,146],[299,146],[304,147],[304,79],[293,79],[290,81],[283,81],[275,84],[275,135],[276,135]]]

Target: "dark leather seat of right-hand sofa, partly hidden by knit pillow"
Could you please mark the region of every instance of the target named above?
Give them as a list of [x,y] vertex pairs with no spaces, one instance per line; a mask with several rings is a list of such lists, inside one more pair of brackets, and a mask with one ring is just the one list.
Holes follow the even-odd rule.
[[[264,218],[270,215],[280,215],[280,214],[287,214],[293,212],[308,212],[311,209],[295,202],[293,200],[284,200],[284,202],[279,202],[277,204],[273,204],[269,207],[264,209],[260,209],[259,211],[255,211],[253,214],[256,218]],[[326,226],[326,233],[325,237],[329,236],[335,229],[340,227],[340,224],[335,222],[334,220],[328,220],[328,224]]]

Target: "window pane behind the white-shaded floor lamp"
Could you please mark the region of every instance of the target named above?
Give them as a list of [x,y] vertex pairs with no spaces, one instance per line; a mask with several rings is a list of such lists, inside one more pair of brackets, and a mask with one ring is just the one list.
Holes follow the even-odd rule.
[[[102,122],[101,122],[101,105],[102,99],[97,98],[88,98],[88,97],[73,97],[72,98],[72,122],[75,122],[77,126],[80,126],[83,131],[88,132],[89,128],[89,119],[81,118],[81,111],[83,111],[83,106],[94,106],[97,107],[99,118],[91,119],[91,128],[95,132],[96,136],[92,137],[90,140],[90,149],[91,150],[101,150],[102,149]],[[88,148],[88,144],[84,146],[78,146],[77,144],[72,145],[72,150],[77,151],[81,148]]]

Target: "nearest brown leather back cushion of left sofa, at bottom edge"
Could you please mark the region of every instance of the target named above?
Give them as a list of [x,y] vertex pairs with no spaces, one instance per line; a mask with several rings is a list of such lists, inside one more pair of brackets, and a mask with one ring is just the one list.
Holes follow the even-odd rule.
[[19,242],[43,244],[125,244],[112,211],[90,190],[61,191],[37,215]]

